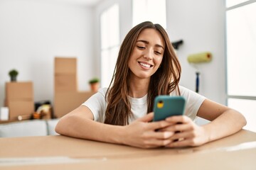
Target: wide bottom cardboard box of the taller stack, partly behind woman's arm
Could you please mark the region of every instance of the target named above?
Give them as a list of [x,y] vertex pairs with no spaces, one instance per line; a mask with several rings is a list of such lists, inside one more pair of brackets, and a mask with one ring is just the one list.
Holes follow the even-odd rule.
[[57,118],[60,118],[63,115],[70,113],[70,111],[78,108],[78,106],[84,103],[93,94],[95,94],[95,92],[92,91],[55,93],[54,115]]

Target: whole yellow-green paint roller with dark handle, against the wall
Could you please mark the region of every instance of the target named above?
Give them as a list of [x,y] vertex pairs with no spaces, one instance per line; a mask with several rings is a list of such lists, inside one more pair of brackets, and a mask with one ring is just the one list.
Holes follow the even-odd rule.
[[[201,64],[204,62],[210,62],[212,60],[212,55],[210,52],[201,52],[201,53],[196,53],[193,55],[188,55],[188,63],[192,64],[193,67],[196,67],[196,64]],[[196,71],[196,93],[199,92],[199,75],[200,72]]]

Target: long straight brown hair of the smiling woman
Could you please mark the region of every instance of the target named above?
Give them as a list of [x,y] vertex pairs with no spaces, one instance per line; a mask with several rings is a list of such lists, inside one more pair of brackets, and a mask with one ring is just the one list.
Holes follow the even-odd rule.
[[128,98],[128,81],[131,72],[128,67],[128,61],[132,55],[139,33],[146,28],[159,31],[165,43],[161,67],[151,76],[149,82],[147,113],[153,111],[154,98],[156,96],[169,95],[171,91],[178,88],[178,82],[181,77],[181,65],[178,62],[166,30],[159,24],[153,24],[149,21],[140,23],[129,31],[119,50],[112,81],[105,97],[108,102],[105,113],[105,123],[107,124],[128,125],[129,118],[133,116]]

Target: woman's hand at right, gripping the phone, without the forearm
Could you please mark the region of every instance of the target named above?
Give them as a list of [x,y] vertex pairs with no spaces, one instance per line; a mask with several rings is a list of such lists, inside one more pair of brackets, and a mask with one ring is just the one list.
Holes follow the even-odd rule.
[[202,126],[193,123],[186,115],[171,116],[166,121],[173,123],[159,131],[174,132],[166,147],[196,147],[209,141],[208,133]]

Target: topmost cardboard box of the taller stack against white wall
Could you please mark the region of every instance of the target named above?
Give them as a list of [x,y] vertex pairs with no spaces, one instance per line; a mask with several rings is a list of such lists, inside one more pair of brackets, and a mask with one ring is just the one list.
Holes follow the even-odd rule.
[[75,57],[55,57],[55,74],[76,74],[76,62]]

